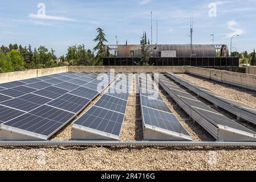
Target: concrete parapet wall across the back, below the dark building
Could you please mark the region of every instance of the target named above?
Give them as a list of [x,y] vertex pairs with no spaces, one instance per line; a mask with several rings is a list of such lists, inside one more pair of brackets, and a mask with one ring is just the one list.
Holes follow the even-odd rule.
[[124,67],[68,67],[70,72],[109,72],[110,69],[115,69],[116,72],[162,72],[165,71],[174,73],[184,73],[184,67],[139,67],[139,66],[124,66]]

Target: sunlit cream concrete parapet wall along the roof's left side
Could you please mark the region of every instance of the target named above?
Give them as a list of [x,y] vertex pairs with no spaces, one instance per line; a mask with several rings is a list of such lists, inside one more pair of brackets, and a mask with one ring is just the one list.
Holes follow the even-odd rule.
[[67,72],[67,67],[47,68],[47,69],[29,69],[21,72],[0,73],[0,84],[5,82],[25,80],[44,75]]

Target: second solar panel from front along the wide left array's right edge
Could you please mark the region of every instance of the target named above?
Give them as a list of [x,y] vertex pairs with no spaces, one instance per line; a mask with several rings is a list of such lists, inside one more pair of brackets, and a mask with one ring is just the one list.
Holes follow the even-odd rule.
[[90,103],[90,100],[71,94],[65,94],[64,96],[51,101],[47,105],[57,107],[59,109],[71,111],[72,113],[78,113],[84,107]]

